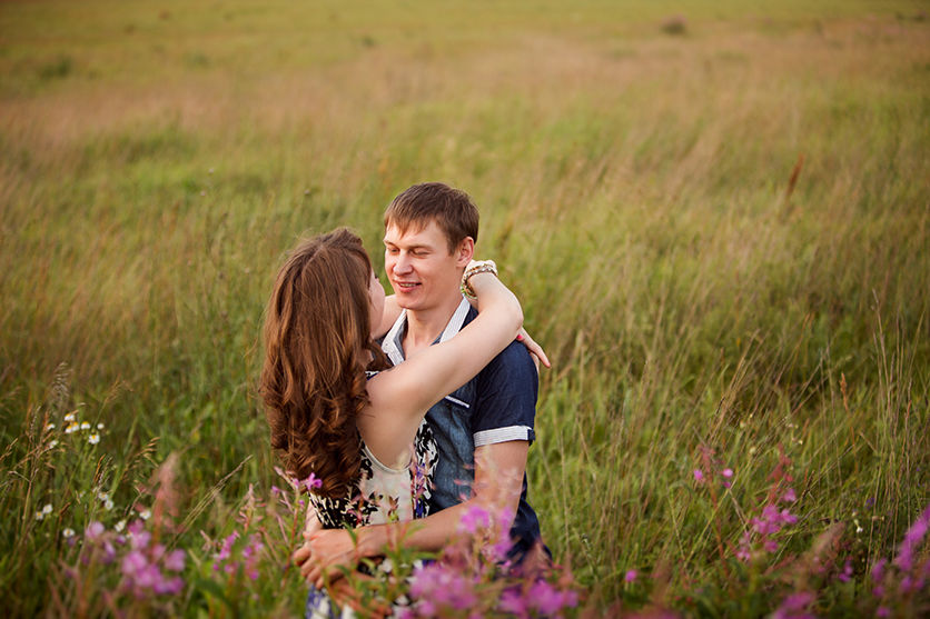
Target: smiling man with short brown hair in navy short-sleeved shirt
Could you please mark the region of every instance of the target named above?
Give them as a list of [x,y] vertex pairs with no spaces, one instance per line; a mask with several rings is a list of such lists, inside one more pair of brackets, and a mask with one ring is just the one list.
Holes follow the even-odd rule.
[[[474,256],[478,211],[464,191],[443,183],[414,186],[385,213],[385,270],[404,309],[383,349],[397,365],[425,347],[454,337],[475,317],[459,283]],[[511,558],[522,561],[543,549],[536,515],[526,501],[526,456],[532,442],[537,369],[526,348],[513,342],[464,387],[426,415],[439,449],[433,477],[432,513],[409,529],[399,525],[357,529],[357,546],[345,530],[309,537],[304,570],[321,585],[323,571],[375,557],[402,535],[408,547],[441,550],[458,533],[472,507],[509,512]],[[508,523],[505,523],[508,525]],[[409,532],[408,532],[409,529]],[[305,547],[306,548],[306,547]],[[298,553],[301,551],[298,551]],[[306,556],[306,555],[304,555]],[[298,562],[304,556],[295,555]]]

